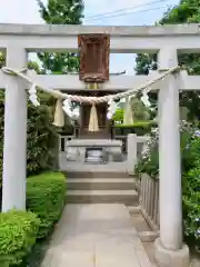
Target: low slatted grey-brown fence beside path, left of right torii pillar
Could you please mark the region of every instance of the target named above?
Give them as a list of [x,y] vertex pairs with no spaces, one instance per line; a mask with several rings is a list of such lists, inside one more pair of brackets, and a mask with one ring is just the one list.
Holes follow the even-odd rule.
[[159,230],[159,179],[142,174],[139,181],[140,208],[143,217],[154,230]]

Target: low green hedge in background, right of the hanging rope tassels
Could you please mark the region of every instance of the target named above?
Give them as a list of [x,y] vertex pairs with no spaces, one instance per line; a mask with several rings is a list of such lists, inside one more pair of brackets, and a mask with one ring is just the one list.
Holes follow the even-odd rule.
[[157,121],[137,121],[133,125],[114,125],[114,132],[118,136],[123,136],[128,134],[136,134],[138,136],[143,136],[151,132],[151,128],[157,127]]

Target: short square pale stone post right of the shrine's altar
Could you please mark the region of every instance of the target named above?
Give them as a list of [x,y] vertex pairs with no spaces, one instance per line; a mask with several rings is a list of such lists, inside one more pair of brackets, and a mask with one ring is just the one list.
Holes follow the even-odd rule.
[[137,135],[130,134],[127,137],[127,168],[129,175],[134,175],[137,165]]

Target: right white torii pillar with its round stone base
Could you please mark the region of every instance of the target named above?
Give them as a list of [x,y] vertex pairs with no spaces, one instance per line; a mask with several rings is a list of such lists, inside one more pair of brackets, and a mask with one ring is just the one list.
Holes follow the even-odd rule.
[[[160,50],[160,71],[177,65],[177,50],[171,48]],[[156,258],[159,266],[164,267],[189,266],[189,251],[182,245],[179,85],[177,76],[178,73],[170,75],[159,91],[160,238],[156,241]]]

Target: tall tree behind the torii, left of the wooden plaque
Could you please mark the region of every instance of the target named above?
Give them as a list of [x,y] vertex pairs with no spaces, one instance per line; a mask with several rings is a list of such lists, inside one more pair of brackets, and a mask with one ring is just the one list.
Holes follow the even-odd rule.
[[[82,0],[48,0],[47,7],[37,0],[41,18],[48,24],[81,24],[84,4]],[[40,52],[42,68],[50,73],[79,71],[78,53]]]

